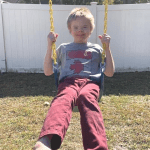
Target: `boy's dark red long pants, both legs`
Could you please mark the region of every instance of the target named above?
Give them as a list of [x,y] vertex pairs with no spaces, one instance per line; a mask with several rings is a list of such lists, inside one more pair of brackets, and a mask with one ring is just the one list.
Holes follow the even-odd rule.
[[102,114],[98,105],[99,86],[87,78],[66,78],[59,84],[58,94],[51,103],[40,137],[56,134],[63,141],[78,106],[81,116],[85,150],[108,150]]

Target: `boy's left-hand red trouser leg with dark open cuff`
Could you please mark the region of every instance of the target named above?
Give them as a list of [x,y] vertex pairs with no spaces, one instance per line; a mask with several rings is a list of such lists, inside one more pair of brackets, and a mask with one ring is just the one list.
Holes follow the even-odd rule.
[[[58,87],[57,97],[51,103],[39,139],[51,136],[51,148],[58,149],[64,139],[72,117],[74,101],[77,97],[75,86],[62,82]],[[40,149],[39,149],[40,150]]]

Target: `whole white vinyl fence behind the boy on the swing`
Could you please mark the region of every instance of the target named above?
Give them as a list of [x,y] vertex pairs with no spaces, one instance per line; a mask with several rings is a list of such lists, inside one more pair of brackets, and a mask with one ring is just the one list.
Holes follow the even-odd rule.
[[[53,5],[56,46],[72,42],[66,18],[76,5]],[[101,44],[104,6],[88,7],[96,28],[89,41]],[[0,4],[0,71],[43,72],[50,31],[49,6]],[[150,71],[150,5],[109,5],[108,34],[117,72]]]

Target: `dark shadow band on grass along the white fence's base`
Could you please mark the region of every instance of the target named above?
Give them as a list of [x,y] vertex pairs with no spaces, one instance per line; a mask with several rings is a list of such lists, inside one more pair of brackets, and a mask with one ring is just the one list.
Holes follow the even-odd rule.
[[[115,73],[105,77],[104,95],[150,95],[150,72]],[[0,98],[55,96],[54,76],[31,73],[0,74]]]

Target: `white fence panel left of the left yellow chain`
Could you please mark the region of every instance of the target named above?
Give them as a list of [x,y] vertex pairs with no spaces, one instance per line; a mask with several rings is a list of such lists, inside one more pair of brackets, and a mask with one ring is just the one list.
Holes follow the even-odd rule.
[[46,16],[49,17],[48,8],[43,9],[43,7],[20,4],[4,5],[8,71],[42,71],[44,50],[46,50],[45,37],[48,32],[47,24],[49,24],[46,20]]

